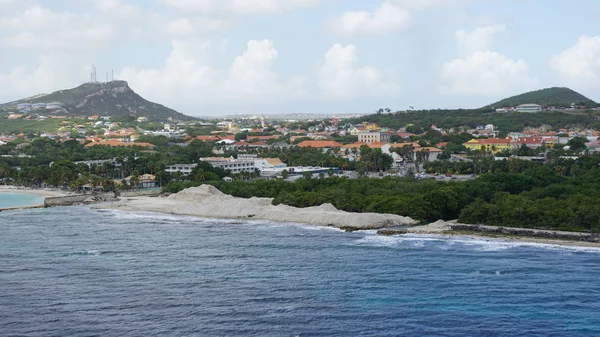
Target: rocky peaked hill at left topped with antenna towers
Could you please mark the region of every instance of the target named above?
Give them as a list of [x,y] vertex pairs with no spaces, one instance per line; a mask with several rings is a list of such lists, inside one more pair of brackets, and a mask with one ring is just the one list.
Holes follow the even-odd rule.
[[[164,105],[147,101],[136,94],[125,81],[107,83],[84,83],[73,89],[65,89],[48,95],[38,95],[15,102],[5,103],[5,107],[19,103],[61,103],[62,112],[70,115],[86,116],[128,116],[147,117],[149,120],[165,121],[169,117],[176,120],[190,120],[186,116]],[[60,113],[59,113],[60,114]]]

